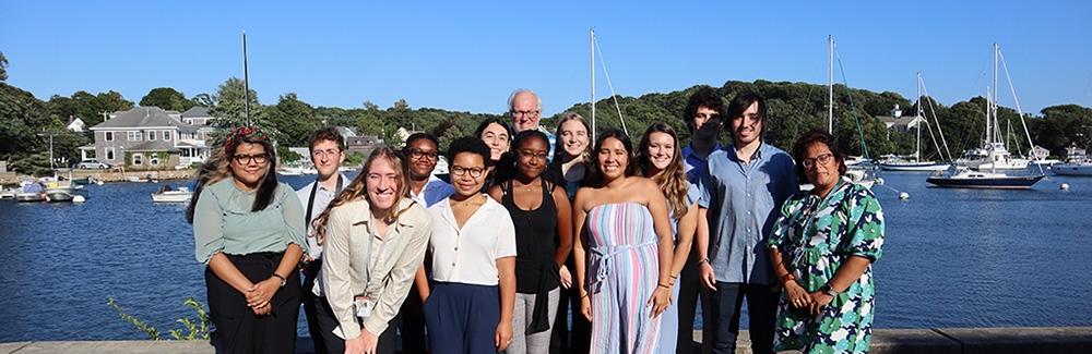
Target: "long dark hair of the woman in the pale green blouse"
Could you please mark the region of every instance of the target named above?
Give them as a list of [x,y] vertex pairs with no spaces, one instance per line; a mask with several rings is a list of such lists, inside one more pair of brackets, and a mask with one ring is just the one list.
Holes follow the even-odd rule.
[[224,147],[216,150],[207,161],[198,169],[198,187],[193,191],[193,198],[186,208],[186,221],[193,223],[193,211],[198,205],[198,198],[205,186],[232,176],[232,159],[235,150],[241,143],[258,144],[265,150],[265,176],[258,182],[258,191],[254,193],[254,204],[250,211],[265,210],[273,203],[273,192],[276,191],[276,149],[269,138],[269,134],[257,127],[242,126],[227,136]]

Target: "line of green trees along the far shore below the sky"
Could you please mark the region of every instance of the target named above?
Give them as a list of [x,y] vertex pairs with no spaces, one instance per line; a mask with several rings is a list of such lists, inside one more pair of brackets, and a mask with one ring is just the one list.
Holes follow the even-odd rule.
[[[86,127],[102,123],[104,117],[116,111],[136,107],[121,96],[110,90],[91,94],[76,91],[70,97],[54,95],[48,100],[35,98],[29,91],[8,85],[8,60],[0,52],[0,160],[7,161],[9,170],[22,173],[50,174],[49,139],[52,137],[55,159],[66,159],[69,163],[80,160],[79,147],[92,143],[90,130],[84,133],[73,133],[64,130],[70,118],[80,118]],[[615,97],[607,97],[596,102],[596,127],[602,131],[608,127],[625,126],[630,136],[640,138],[641,133],[651,123],[663,121],[670,124],[679,133],[680,141],[690,141],[690,132],[682,119],[682,110],[687,99],[700,86],[693,86],[667,94],[652,93],[640,97],[618,96],[619,109],[615,108]],[[767,99],[770,126],[765,141],[782,149],[788,150],[793,142],[811,129],[827,129],[828,97],[827,86],[792,82],[739,82],[728,81],[715,88],[727,102],[733,96],[744,90],[756,91]],[[157,87],[149,91],[139,101],[140,107],[159,107],[165,110],[186,111],[195,106],[209,108],[215,117],[210,122],[213,126],[235,127],[246,123],[247,96],[245,84],[237,77],[228,78],[216,87],[212,94],[197,94],[187,97],[170,87]],[[505,97],[498,97],[502,101]],[[549,97],[544,97],[549,99]],[[311,132],[328,125],[352,126],[358,135],[375,135],[392,145],[400,145],[399,127],[425,131],[436,135],[440,141],[441,150],[456,137],[472,135],[478,123],[490,117],[501,117],[510,121],[509,113],[474,113],[467,111],[448,111],[438,108],[412,108],[401,99],[390,107],[381,109],[378,105],[365,100],[360,107],[313,107],[300,100],[296,94],[280,95],[274,105],[261,105],[258,93],[249,91],[249,115],[252,124],[269,131],[281,146],[307,146]],[[887,126],[875,119],[877,115],[888,115],[891,109],[899,105],[903,117],[914,115],[917,105],[926,112],[928,124],[922,125],[922,154],[924,158],[942,160],[937,148],[942,144],[934,144],[930,136],[942,131],[948,148],[953,154],[978,147],[982,144],[985,130],[987,100],[974,97],[966,101],[945,106],[930,97],[922,97],[916,101],[902,97],[897,93],[874,93],[866,89],[847,88],[834,85],[833,130],[840,148],[851,155],[868,155],[876,159],[881,155],[913,154],[916,144],[916,133],[913,130],[901,132]],[[591,119],[592,105],[578,102],[566,111],[574,111],[585,119]],[[544,117],[542,124],[553,130],[554,122],[563,112]],[[1059,105],[1044,108],[1038,114],[1024,113],[1032,139],[1036,145],[1051,150],[1054,156],[1063,156],[1068,146],[1089,148],[1092,144],[1092,109],[1078,105]],[[1009,142],[1013,154],[1028,155],[1029,146],[1023,137],[1019,113],[1007,107],[998,108],[998,122],[1002,126],[998,131]],[[1011,126],[1011,133],[1007,129]],[[933,130],[930,134],[928,131]],[[226,131],[214,135],[213,143],[222,139]],[[731,134],[722,134],[722,145],[729,144]],[[947,154],[942,155],[947,157]]]

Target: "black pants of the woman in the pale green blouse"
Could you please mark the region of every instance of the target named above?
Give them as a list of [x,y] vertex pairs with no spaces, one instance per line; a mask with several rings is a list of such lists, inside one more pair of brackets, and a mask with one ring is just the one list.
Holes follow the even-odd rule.
[[[251,282],[273,276],[284,253],[263,252],[245,256],[227,255]],[[209,313],[224,353],[293,353],[296,350],[296,319],[299,317],[299,276],[293,272],[287,284],[273,294],[269,315],[257,316],[247,297],[205,267]]]

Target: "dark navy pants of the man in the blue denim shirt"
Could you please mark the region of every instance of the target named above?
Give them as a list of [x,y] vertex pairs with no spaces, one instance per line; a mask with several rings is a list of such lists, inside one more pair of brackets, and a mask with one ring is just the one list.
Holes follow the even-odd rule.
[[747,296],[747,315],[750,317],[751,349],[753,353],[773,353],[773,329],[778,319],[778,298],[773,285],[716,282],[710,294],[713,310],[713,353],[735,353],[739,335],[739,309]]

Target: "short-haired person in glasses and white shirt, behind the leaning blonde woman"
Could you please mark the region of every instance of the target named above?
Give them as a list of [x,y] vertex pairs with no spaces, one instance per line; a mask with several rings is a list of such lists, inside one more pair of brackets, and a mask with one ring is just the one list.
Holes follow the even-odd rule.
[[[344,146],[345,138],[341,133],[337,133],[337,129],[327,126],[314,131],[311,134],[308,150],[311,152],[311,162],[314,163],[314,169],[319,171],[319,175],[314,182],[296,191],[296,196],[299,197],[299,202],[304,205],[304,220],[307,222],[307,245],[310,247],[304,261],[300,263],[300,271],[304,273],[304,294],[300,296],[300,300],[304,303],[304,313],[307,315],[307,328],[311,333],[311,340],[314,342],[316,353],[327,353],[327,345],[314,314],[318,310],[318,306],[329,307],[330,305],[327,304],[324,297],[316,295],[323,293],[321,292],[321,281],[318,280],[320,278],[319,269],[322,268],[322,245],[319,245],[316,239],[311,236],[314,231],[311,228],[311,221],[318,218],[322,213],[322,210],[327,209],[327,205],[349,182],[345,175],[337,172],[337,168],[345,161],[345,151],[342,150]],[[327,312],[332,313],[330,309],[327,309]]]

